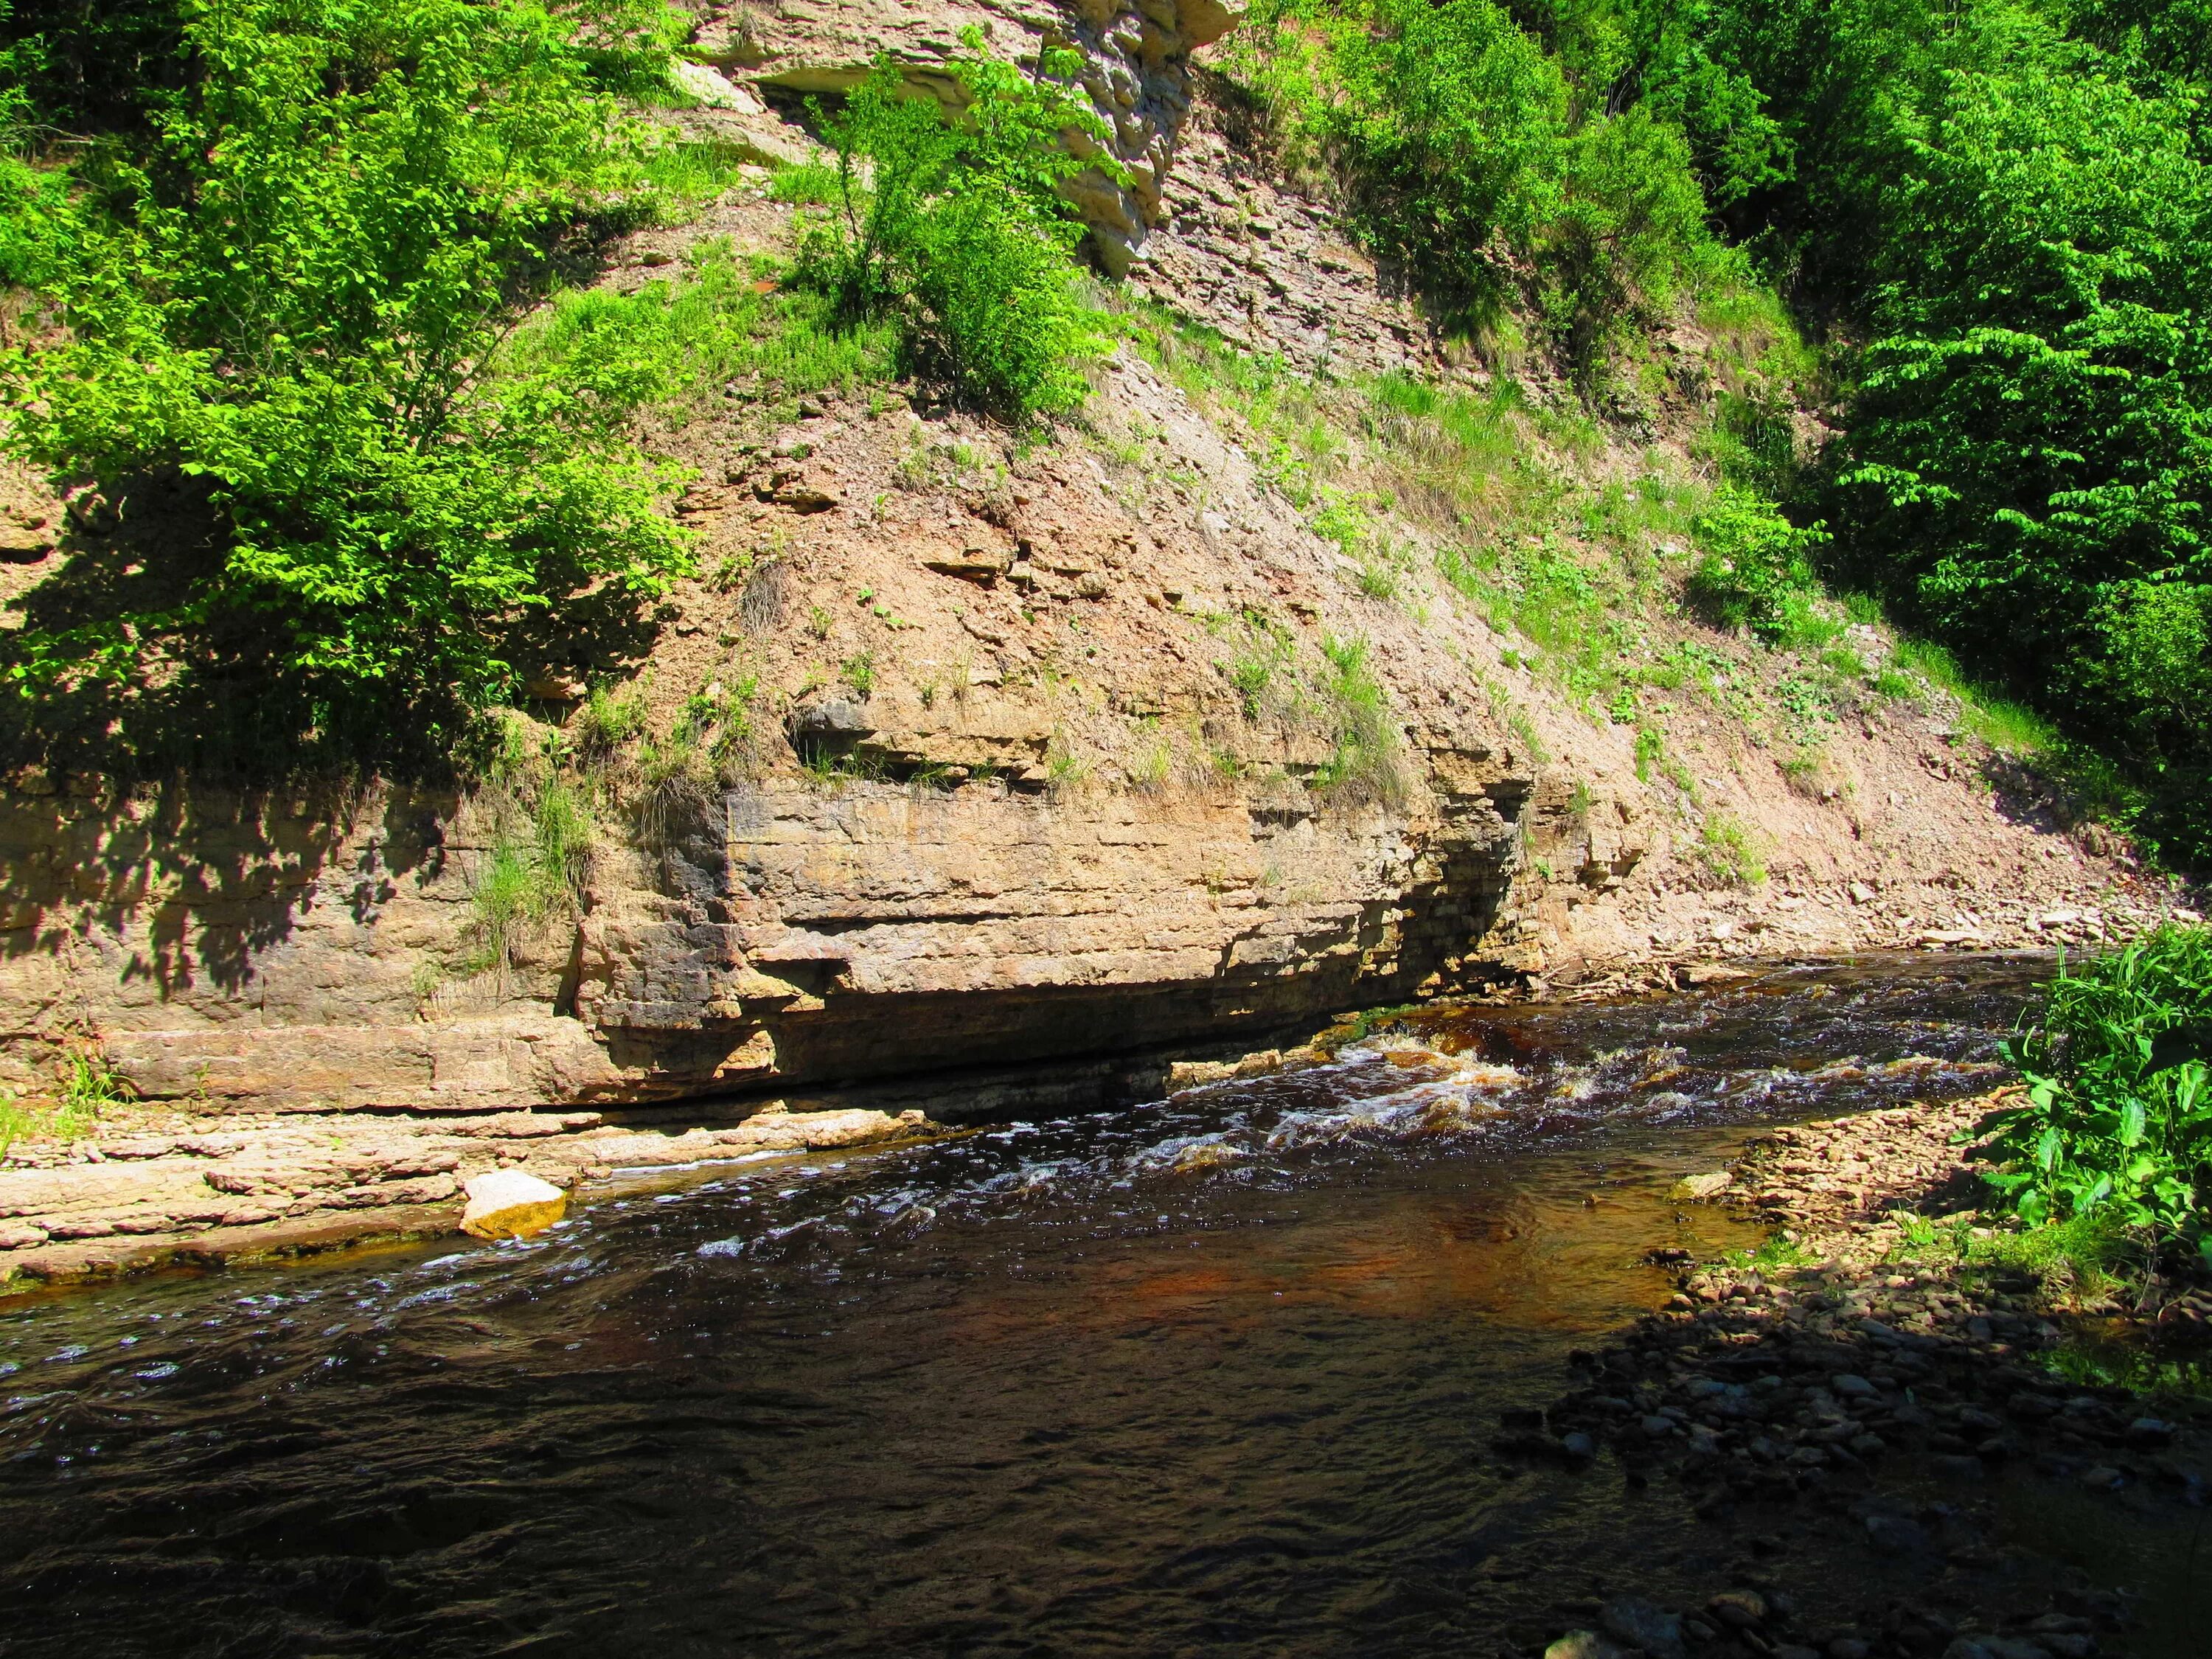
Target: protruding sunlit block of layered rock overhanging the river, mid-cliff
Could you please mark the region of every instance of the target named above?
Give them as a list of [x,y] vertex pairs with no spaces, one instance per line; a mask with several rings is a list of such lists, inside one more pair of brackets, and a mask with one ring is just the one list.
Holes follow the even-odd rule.
[[1462,969],[1526,787],[1493,763],[1427,814],[1329,827],[1239,799],[732,794],[677,900],[588,929],[575,1006],[695,1086],[1296,1022]]

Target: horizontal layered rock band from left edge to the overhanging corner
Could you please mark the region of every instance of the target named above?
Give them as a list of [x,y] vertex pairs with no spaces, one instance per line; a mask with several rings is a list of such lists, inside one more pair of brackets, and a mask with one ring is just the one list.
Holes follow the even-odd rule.
[[18,1064],[60,1042],[49,1011],[82,1009],[135,1093],[283,1110],[650,1099],[1279,1026],[1455,980],[1498,931],[1531,781],[1482,748],[1429,761],[1420,810],[1332,823],[1239,794],[768,779],[664,869],[608,858],[586,916],[458,989],[422,978],[484,856],[467,814],[434,816],[451,803],[392,796],[349,827],[195,805],[159,865],[204,887],[146,902],[146,863],[102,874],[128,807],[18,799],[0,1006]]

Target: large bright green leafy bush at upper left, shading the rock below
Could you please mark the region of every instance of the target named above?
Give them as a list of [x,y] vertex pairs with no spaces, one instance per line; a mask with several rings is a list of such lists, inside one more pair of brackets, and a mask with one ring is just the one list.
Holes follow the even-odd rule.
[[[177,18],[181,86],[142,88],[75,190],[7,201],[0,248],[27,250],[66,332],[9,352],[0,387],[24,456],[199,529],[97,604],[51,595],[4,672],[93,726],[102,695],[276,681],[261,730],[436,737],[511,688],[533,615],[586,588],[655,595],[686,562],[657,511],[672,480],[628,440],[657,372],[622,349],[498,352],[597,232],[650,208],[650,142],[606,75],[666,62],[666,15],[228,0]],[[66,60],[84,40],[33,44]]]

